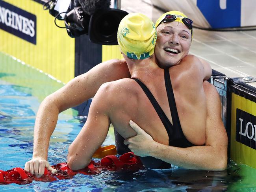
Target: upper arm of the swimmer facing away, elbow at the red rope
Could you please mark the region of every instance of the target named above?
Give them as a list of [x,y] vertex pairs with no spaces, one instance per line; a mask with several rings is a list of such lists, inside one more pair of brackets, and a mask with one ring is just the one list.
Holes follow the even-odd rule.
[[108,134],[110,120],[107,103],[109,102],[105,91],[102,85],[93,98],[85,125],[69,147],[67,163],[72,170],[87,166]]

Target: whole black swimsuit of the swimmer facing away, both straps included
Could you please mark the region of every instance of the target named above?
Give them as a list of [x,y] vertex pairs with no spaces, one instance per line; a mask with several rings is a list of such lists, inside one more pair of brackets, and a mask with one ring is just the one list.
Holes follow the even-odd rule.
[[[144,85],[144,83],[139,81],[139,79],[134,79],[134,80],[137,81],[137,83],[141,86],[141,88],[147,95],[148,99],[152,103],[154,109],[156,110],[156,113],[160,117],[161,122],[165,126],[165,129],[169,136],[169,146],[180,147],[180,148],[195,146],[194,144],[192,144],[187,140],[187,138],[182,132],[182,128],[180,126],[180,119],[178,116],[178,111],[177,111],[175,98],[173,94],[173,88],[171,84],[169,69],[165,69],[165,89],[167,92],[167,98],[168,98],[169,107],[171,110],[173,125],[171,124],[171,122],[169,121],[169,119],[161,109],[160,105],[158,104],[158,102],[156,101],[156,99],[154,98],[150,90],[146,87],[146,85]],[[115,140],[116,140],[118,153],[119,154],[126,153],[128,147],[123,144],[124,139],[117,132],[115,132]],[[123,148],[124,146],[125,148]],[[128,149],[128,151],[130,150]],[[160,159],[156,159],[154,157],[140,157],[140,158],[143,164],[148,168],[154,168],[154,169],[172,168],[171,164],[161,161]]]

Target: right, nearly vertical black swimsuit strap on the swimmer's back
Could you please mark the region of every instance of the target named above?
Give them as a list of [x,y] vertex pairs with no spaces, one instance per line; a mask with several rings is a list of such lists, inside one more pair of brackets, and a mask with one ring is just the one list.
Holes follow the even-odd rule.
[[169,69],[165,69],[165,89],[167,92],[167,98],[168,98],[169,107],[171,110],[173,127],[175,127],[176,129],[182,130],[181,125],[180,125],[180,118],[178,115],[176,102],[175,102],[175,98],[174,98],[173,87],[172,87],[172,83],[171,83]]

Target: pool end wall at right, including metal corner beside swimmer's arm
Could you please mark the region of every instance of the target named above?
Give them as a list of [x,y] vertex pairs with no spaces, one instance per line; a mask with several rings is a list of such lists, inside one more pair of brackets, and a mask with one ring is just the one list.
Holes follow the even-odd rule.
[[256,78],[228,78],[213,70],[210,82],[221,97],[229,157],[256,168]]

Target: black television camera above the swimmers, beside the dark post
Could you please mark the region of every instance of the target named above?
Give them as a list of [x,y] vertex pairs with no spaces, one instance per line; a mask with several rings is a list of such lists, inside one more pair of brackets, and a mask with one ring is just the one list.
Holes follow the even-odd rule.
[[[54,9],[61,0],[49,0],[44,9],[58,20],[64,20],[67,33],[70,37],[89,35],[93,43],[117,45],[117,29],[122,18],[128,13],[120,9],[111,9],[110,0],[70,0],[65,17]],[[56,22],[55,22],[56,24]],[[58,26],[56,24],[56,26]],[[58,26],[59,27],[59,26]]]

